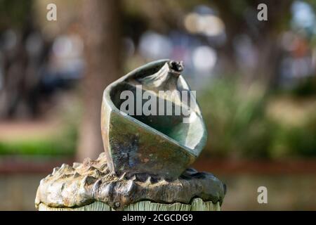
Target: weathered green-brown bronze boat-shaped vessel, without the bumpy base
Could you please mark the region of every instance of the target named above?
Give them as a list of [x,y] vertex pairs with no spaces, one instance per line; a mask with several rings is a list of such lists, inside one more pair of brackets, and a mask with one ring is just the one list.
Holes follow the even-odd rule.
[[[194,96],[188,97],[192,92],[180,75],[182,70],[180,62],[159,60],[107,86],[103,94],[101,129],[112,172],[144,172],[174,179],[195,161],[207,134]],[[121,98],[124,91],[130,91],[134,98],[129,105],[134,105],[133,110],[121,110],[124,101],[131,100]],[[149,101],[142,97],[145,91],[150,98],[156,98],[151,99],[157,105],[154,115],[137,112]],[[194,102],[184,104],[181,94],[187,94],[187,102],[189,99]],[[170,113],[167,113],[168,106]],[[178,111],[185,107],[189,113],[175,115],[177,107]]]

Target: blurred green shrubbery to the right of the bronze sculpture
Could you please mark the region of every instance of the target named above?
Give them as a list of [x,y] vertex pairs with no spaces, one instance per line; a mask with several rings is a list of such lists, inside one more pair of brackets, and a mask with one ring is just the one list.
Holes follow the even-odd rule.
[[266,113],[269,101],[277,96],[266,94],[258,84],[244,86],[237,79],[214,79],[198,98],[209,131],[204,155],[316,156],[316,116],[308,116],[299,127],[281,124]]

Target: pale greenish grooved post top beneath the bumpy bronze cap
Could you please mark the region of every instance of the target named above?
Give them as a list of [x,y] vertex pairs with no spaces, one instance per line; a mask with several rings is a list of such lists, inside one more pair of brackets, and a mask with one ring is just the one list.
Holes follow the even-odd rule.
[[[44,203],[39,204],[39,211],[115,211],[103,202],[94,202],[82,207],[49,207]],[[220,211],[219,202],[204,202],[201,198],[195,198],[190,205],[183,203],[162,204],[150,201],[141,201],[126,205],[123,211]]]

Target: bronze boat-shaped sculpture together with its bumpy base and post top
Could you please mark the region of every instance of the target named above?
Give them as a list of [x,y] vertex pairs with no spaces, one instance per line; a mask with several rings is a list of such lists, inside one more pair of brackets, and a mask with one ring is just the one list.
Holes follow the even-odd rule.
[[[148,63],[107,86],[101,130],[105,153],[42,179],[39,210],[220,210],[225,185],[188,169],[206,142],[183,64]],[[183,96],[187,94],[187,96]]]

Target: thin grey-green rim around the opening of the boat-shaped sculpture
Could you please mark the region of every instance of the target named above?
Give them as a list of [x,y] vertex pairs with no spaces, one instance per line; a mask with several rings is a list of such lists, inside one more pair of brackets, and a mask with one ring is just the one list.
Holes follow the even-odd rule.
[[[110,93],[111,93],[112,89],[114,89],[114,86],[117,86],[119,83],[124,82],[127,78],[133,77],[138,72],[140,72],[142,70],[146,70],[146,69],[148,69],[148,68],[150,68],[150,67],[152,67],[154,65],[157,66],[157,65],[161,64],[163,66],[164,63],[168,63],[168,62],[171,62],[171,60],[170,59],[156,60],[156,61],[147,63],[145,65],[142,65],[142,66],[136,68],[135,70],[132,70],[128,74],[124,75],[123,77],[120,77],[119,79],[117,79],[116,81],[112,82],[110,85],[108,85],[105,88],[105,90],[103,92],[103,102],[106,103],[107,105],[109,105],[111,110],[113,110],[115,113],[119,113],[121,115],[124,115],[124,117],[126,117],[128,120],[131,120],[132,122],[136,122],[141,127],[151,131],[152,133],[158,134],[159,136],[162,136],[164,139],[166,139],[168,141],[171,141],[173,144],[175,144],[176,146],[179,146],[180,148],[184,148],[187,151],[187,153],[192,155],[194,158],[197,158],[199,156],[199,153],[201,153],[202,149],[204,148],[204,146],[206,144],[206,138],[207,138],[206,126],[204,124],[202,113],[201,113],[201,110],[199,108],[199,104],[197,102],[196,102],[196,105],[197,105],[197,108],[199,109],[199,111],[197,111],[195,113],[197,113],[197,115],[201,119],[201,124],[202,124],[202,127],[204,129],[204,135],[202,135],[202,138],[199,140],[199,143],[197,144],[197,146],[195,146],[195,148],[190,148],[188,146],[185,146],[185,145],[179,143],[178,141],[176,141],[175,139],[171,138],[170,136],[162,133],[162,131],[154,129],[153,127],[150,127],[149,125],[145,124],[144,122],[141,122],[140,120],[137,120],[136,118],[132,117],[131,115],[128,115],[128,114],[122,112],[121,110],[119,110],[119,108],[117,108],[114,105],[114,103],[112,102],[111,96],[110,96]],[[182,77],[182,79],[184,80],[184,82],[187,85],[187,87],[190,89],[189,84],[187,84],[187,82],[185,81],[185,79],[183,77]],[[103,126],[103,125],[104,124],[101,124],[101,126]]]

